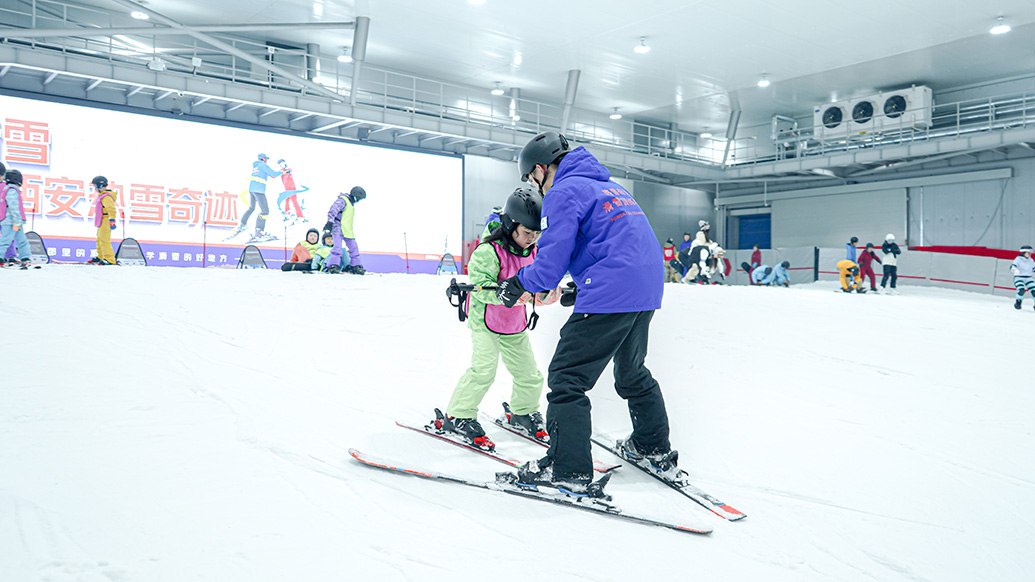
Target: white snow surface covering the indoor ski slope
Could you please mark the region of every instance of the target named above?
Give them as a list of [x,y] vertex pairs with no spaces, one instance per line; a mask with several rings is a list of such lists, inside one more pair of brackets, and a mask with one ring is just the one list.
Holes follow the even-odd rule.
[[[609,490],[703,536],[353,461],[506,469],[393,425],[469,365],[447,281],[0,271],[0,580],[1035,579],[1030,300],[667,286],[647,362],[680,464],[748,517],[632,468]],[[569,313],[540,310],[543,371]],[[593,417],[620,437],[610,374]],[[482,410],[507,399],[501,366]]]

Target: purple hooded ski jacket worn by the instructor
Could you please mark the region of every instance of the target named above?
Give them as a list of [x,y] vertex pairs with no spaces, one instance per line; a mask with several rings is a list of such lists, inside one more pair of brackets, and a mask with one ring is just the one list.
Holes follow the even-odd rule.
[[535,262],[518,280],[554,289],[570,271],[574,313],[631,313],[661,307],[661,245],[632,195],[584,147],[564,156],[542,201]]

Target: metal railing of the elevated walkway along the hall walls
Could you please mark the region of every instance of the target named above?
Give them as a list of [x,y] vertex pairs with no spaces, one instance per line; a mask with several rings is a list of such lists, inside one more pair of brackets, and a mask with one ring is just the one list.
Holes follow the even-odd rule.
[[[33,0],[19,6],[0,7],[0,20],[12,28],[141,27],[140,21],[121,12],[85,7],[71,2]],[[347,100],[353,91],[353,65],[334,57],[308,54],[304,48],[290,48],[248,40],[239,36],[211,33],[250,55],[264,58],[279,68],[315,82]],[[7,42],[37,50],[58,51],[87,58],[101,58],[127,66],[149,66],[184,75],[220,79],[232,83],[261,86],[269,90],[307,92],[296,80],[220,53],[186,35],[116,35],[111,37],[59,36],[53,38],[11,38]],[[510,95],[495,96],[487,87],[448,83],[373,66],[365,63],[355,88],[362,108],[404,112],[422,118],[438,118],[495,130],[534,135],[559,129],[562,105]],[[907,114],[910,112],[907,112]],[[899,119],[909,118],[908,115]],[[783,117],[783,119],[788,119]],[[795,118],[797,126],[773,130],[760,124],[738,128],[729,147],[721,138],[702,138],[692,132],[632,119],[611,119],[609,114],[572,109],[564,132],[580,144],[597,145],[633,153],[680,162],[718,166],[761,164],[774,161],[822,156],[859,148],[874,148],[919,140],[963,136],[1026,127],[1035,122],[1035,93],[1010,94],[983,99],[936,105],[929,124],[885,126],[880,132],[820,139],[811,116]],[[885,121],[888,121],[885,118]]]

